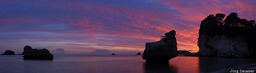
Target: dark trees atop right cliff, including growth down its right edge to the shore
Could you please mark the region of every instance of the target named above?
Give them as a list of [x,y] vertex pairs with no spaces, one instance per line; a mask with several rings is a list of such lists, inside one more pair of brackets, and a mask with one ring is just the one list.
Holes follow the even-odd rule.
[[[225,36],[234,38],[237,36],[245,37],[250,56],[256,57],[256,23],[255,20],[240,19],[237,13],[230,13],[225,20],[225,14],[217,13],[215,16],[210,14],[201,21],[199,29],[200,35],[206,36]],[[224,24],[224,25],[223,25]]]

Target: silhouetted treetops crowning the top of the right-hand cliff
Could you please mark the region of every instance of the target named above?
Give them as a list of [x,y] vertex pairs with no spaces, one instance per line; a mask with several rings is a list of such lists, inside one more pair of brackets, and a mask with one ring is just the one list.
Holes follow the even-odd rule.
[[[203,21],[201,21],[199,34],[206,34],[208,36],[225,35],[246,35],[242,29],[256,29],[255,20],[240,19],[237,13],[230,13],[229,16],[222,13],[217,13],[215,16],[210,14]],[[224,27],[223,27],[224,24]],[[241,29],[241,30],[240,30]]]

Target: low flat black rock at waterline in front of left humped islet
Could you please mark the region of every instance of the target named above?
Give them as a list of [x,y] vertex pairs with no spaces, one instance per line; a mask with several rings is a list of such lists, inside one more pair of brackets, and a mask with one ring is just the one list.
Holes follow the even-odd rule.
[[52,60],[53,54],[26,54],[24,59]]

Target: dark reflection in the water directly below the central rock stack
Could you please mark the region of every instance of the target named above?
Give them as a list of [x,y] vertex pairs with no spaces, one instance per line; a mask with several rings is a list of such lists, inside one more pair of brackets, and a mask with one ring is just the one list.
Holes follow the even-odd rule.
[[171,63],[143,63],[145,73],[177,73],[178,66]]

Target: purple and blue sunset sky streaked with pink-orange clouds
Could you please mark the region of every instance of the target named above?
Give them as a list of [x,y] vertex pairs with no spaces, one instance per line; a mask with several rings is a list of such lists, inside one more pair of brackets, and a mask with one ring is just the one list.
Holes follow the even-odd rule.
[[255,0],[0,0],[0,53],[29,45],[52,54],[137,54],[171,30],[178,50],[196,53],[205,17],[255,20],[255,9]]

